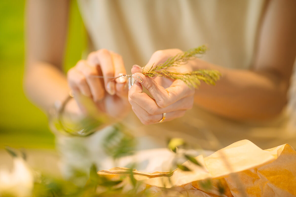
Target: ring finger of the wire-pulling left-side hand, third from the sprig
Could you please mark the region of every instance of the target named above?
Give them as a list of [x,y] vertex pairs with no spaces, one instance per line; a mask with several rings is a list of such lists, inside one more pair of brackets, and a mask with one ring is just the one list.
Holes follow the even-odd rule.
[[86,78],[86,82],[89,84],[91,95],[95,102],[100,101],[104,98],[104,87],[100,82],[98,76],[98,71],[94,66],[90,66],[87,61],[81,60],[76,64],[76,68],[80,71]]

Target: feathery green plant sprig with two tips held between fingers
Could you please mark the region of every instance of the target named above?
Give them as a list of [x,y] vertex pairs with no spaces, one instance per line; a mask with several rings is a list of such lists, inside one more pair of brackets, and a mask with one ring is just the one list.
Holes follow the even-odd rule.
[[199,69],[189,73],[178,73],[172,70],[174,66],[184,65],[197,55],[204,54],[206,50],[206,45],[201,45],[183,53],[178,53],[176,56],[168,58],[163,64],[152,65],[148,71],[144,71],[144,66],[143,74],[149,77],[162,76],[169,79],[180,79],[189,87],[194,88],[200,85],[200,80],[207,84],[215,85],[221,76],[221,73],[217,70]]

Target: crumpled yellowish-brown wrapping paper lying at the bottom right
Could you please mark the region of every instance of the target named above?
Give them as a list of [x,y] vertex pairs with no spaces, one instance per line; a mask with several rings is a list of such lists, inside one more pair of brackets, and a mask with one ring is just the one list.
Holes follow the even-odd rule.
[[[296,152],[284,144],[262,150],[251,141],[237,141],[208,157],[195,157],[202,167],[186,161],[191,171],[176,169],[173,172],[139,172],[134,178],[149,187],[151,193],[185,196],[296,196]],[[128,174],[127,168],[115,167],[100,170],[99,175]],[[212,187],[202,183],[210,180]],[[221,186],[224,192],[218,191]]]

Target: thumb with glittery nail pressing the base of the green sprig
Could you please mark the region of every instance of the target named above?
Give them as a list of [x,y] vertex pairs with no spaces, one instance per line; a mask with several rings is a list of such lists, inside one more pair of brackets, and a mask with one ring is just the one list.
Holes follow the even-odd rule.
[[148,90],[159,107],[165,106],[165,100],[168,98],[168,92],[164,87],[158,85],[151,77],[145,76],[140,72],[132,74],[132,77]]

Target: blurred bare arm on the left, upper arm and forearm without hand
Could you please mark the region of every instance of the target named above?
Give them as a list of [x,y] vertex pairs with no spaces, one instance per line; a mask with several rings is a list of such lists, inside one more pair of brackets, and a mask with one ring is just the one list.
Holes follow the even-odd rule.
[[67,0],[28,0],[26,4],[24,89],[45,111],[70,91],[62,73],[69,4]]

